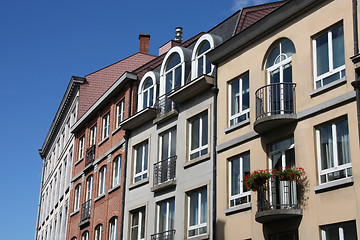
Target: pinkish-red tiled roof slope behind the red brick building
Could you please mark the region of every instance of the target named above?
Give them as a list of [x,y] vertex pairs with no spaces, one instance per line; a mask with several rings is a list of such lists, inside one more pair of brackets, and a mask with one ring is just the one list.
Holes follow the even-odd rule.
[[124,72],[131,72],[154,58],[156,58],[156,56],[136,53],[87,75],[85,77],[86,83],[80,86],[78,118],[80,118]]

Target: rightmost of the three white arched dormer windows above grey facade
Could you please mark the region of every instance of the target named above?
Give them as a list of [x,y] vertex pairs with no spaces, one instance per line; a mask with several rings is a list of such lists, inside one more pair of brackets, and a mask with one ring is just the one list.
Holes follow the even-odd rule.
[[194,46],[191,56],[191,79],[200,77],[203,74],[211,75],[214,66],[209,62],[206,54],[221,44],[222,39],[212,34],[204,34]]

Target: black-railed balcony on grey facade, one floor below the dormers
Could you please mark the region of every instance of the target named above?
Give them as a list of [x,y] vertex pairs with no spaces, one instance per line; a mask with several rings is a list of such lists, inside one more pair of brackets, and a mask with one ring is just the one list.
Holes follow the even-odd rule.
[[176,184],[176,158],[169,157],[154,164],[154,186],[151,191],[156,191]]

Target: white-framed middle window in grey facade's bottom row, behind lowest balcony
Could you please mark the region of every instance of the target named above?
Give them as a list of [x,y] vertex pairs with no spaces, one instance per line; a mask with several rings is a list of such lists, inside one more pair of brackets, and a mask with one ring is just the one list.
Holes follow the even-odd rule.
[[[174,229],[174,219],[175,219],[175,199],[169,199],[162,202],[159,202],[156,207],[156,215],[157,215],[157,222],[156,222],[156,232],[163,233],[161,236],[164,239],[167,239],[167,235],[169,234],[171,238],[172,232],[169,232]],[[161,237],[159,236],[159,237]]]

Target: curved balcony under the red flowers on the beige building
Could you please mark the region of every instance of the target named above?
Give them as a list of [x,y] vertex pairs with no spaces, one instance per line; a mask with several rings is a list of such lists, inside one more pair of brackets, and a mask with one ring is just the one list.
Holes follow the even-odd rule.
[[270,185],[270,188],[268,185],[260,186],[257,191],[257,222],[267,223],[302,216],[299,206],[301,194],[295,181],[279,181],[275,178]]

